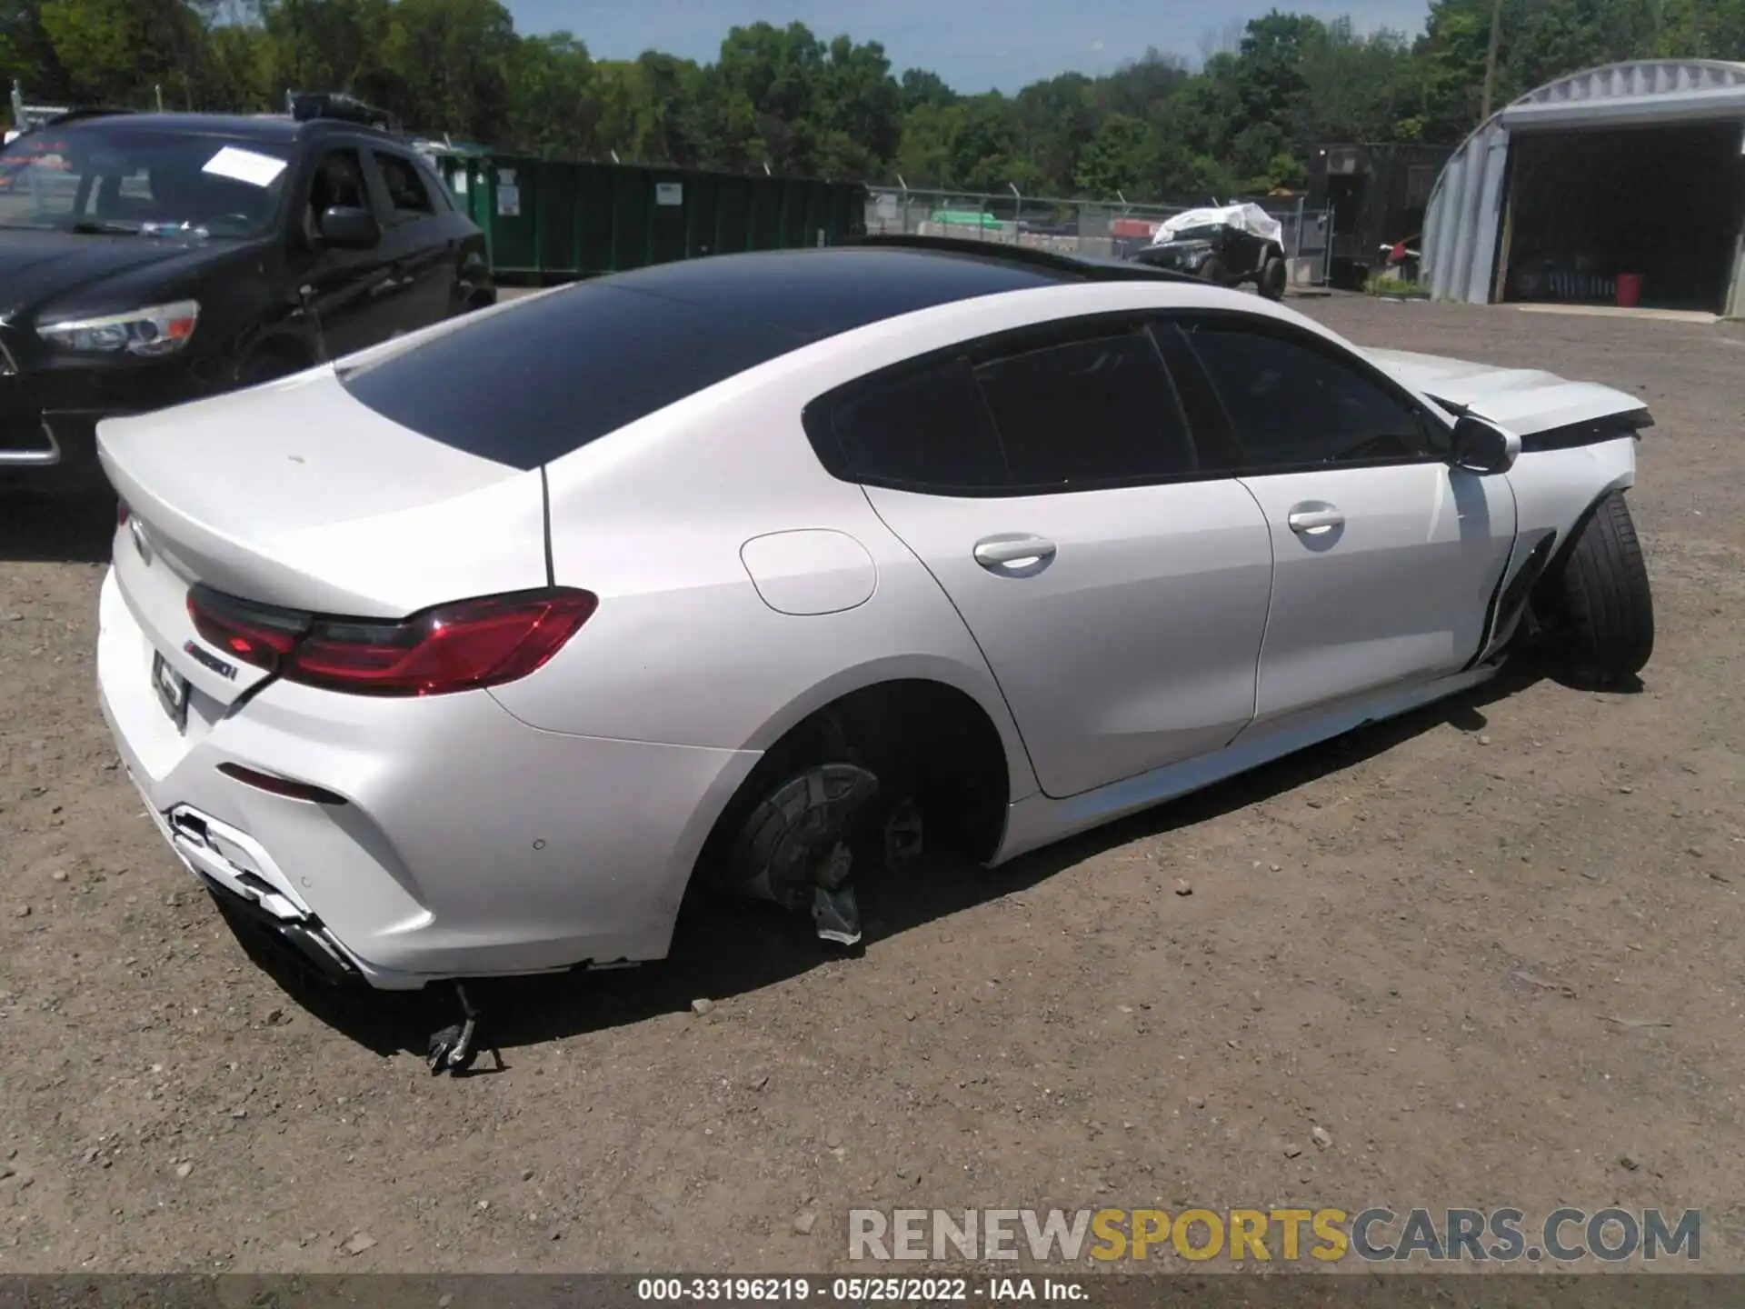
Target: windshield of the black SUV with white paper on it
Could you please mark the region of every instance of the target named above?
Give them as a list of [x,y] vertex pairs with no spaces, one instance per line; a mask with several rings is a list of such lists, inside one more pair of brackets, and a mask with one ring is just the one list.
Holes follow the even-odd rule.
[[127,119],[42,127],[0,150],[0,227],[143,236],[260,236],[288,150]]

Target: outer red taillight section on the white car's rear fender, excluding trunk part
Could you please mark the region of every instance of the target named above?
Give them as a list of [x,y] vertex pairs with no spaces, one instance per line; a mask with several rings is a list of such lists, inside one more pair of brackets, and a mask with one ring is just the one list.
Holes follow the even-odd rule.
[[401,623],[318,620],[281,663],[293,682],[356,695],[445,695],[539,668],[599,607],[581,590],[492,595]]

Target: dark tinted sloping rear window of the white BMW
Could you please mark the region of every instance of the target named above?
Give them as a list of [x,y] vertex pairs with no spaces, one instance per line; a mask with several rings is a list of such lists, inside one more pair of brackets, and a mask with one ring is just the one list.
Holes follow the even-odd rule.
[[529,469],[803,344],[756,319],[583,283],[342,382],[403,428]]

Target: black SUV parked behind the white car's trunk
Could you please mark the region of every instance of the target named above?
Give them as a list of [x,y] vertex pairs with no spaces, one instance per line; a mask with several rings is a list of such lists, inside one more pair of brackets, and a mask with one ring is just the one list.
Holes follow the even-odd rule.
[[65,113],[0,150],[0,489],[101,487],[99,419],[494,300],[485,236],[429,162],[326,98]]

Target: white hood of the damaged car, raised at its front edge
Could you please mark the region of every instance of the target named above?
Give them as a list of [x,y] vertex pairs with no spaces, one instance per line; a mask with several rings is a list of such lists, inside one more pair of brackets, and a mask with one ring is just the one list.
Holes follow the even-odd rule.
[[1379,368],[1431,400],[1452,401],[1534,436],[1597,419],[1646,414],[1647,405],[1625,391],[1595,382],[1570,382],[1537,368],[1497,368],[1410,351],[1363,351]]

